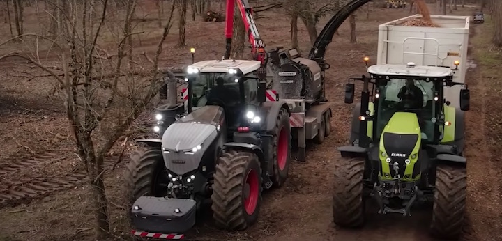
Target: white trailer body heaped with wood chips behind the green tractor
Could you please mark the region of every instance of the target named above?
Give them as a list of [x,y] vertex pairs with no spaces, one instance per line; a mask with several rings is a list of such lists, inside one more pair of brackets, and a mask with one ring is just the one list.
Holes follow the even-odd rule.
[[[417,66],[455,69],[453,63],[460,61],[453,81],[465,83],[470,17],[432,15],[432,22],[439,27],[402,26],[409,20],[421,18],[422,15],[412,15],[380,24],[377,64],[413,62]],[[459,107],[461,88],[452,86],[445,90],[445,98],[452,106]]]

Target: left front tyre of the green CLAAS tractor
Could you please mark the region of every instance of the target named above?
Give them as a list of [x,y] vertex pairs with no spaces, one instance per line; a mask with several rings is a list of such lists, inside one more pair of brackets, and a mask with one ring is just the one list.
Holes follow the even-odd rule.
[[360,158],[346,159],[335,164],[333,188],[333,221],[343,228],[357,228],[365,221],[363,177],[365,161]]

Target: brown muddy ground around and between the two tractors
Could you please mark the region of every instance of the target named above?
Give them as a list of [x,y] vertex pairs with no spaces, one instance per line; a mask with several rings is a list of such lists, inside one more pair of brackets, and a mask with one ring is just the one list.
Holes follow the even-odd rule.
[[[217,6],[218,8],[218,6]],[[139,8],[138,15],[156,13],[150,1]],[[435,13],[434,6],[431,6]],[[454,15],[471,15],[475,8],[459,8]],[[167,12],[167,7],[165,7]],[[26,32],[38,25],[33,9],[25,18]],[[193,240],[431,240],[427,235],[431,207],[415,208],[413,217],[377,215],[367,210],[369,222],[360,230],[340,230],[331,218],[330,182],[333,163],[339,160],[337,146],[347,143],[352,105],[343,103],[343,84],[349,77],[365,72],[363,56],[376,59],[378,25],[409,15],[408,10],[370,8],[357,16],[357,43],[349,42],[348,21],[328,47],[326,60],[331,68],[328,100],[333,110],[333,132],[321,146],[309,143],[307,162],[291,164],[289,179],[282,189],[267,192],[258,223],[248,231],[217,231],[210,223],[201,224],[187,234]],[[166,17],[167,18],[167,17]],[[327,20],[318,24],[319,31]],[[268,47],[289,46],[289,20],[279,13],[259,13],[257,24]],[[153,52],[160,29],[155,20],[139,24],[149,31],[138,43],[137,51]],[[176,26],[176,24],[175,24]],[[307,31],[299,24],[301,50],[310,49]],[[491,26],[471,24],[469,58],[475,68],[466,77],[472,91],[471,111],[467,118],[468,222],[463,240],[502,240],[502,160],[497,156],[502,138],[499,102],[501,79],[497,66],[502,63],[501,49],[489,45]],[[8,33],[8,24],[0,23],[0,32]],[[187,44],[197,49],[196,61],[219,59],[225,49],[224,23],[189,20]],[[156,35],[155,35],[156,34]],[[6,40],[7,34],[1,37]],[[176,31],[168,36],[168,46],[160,63],[183,66],[190,63],[188,48],[174,47]],[[208,47],[211,46],[211,47]],[[18,46],[19,47],[19,46]],[[9,49],[0,49],[0,56]],[[137,56],[141,59],[140,56]],[[50,95],[52,79],[31,77],[33,68],[24,61],[0,61],[0,240],[92,240],[93,215],[89,206],[85,172],[79,165],[70,139],[63,102]],[[355,101],[357,102],[357,100]],[[144,130],[151,116],[146,111],[135,123]],[[145,135],[139,131],[136,137]],[[142,134],[143,133],[143,134]],[[128,150],[134,149],[129,140]],[[107,166],[116,162],[111,153]],[[106,173],[112,221],[112,235],[130,240],[123,205],[121,177],[127,159]]]

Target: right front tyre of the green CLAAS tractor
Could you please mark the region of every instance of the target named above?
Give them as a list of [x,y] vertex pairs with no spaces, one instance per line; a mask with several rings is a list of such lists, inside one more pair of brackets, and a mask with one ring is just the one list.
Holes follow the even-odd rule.
[[466,205],[467,172],[463,166],[438,165],[432,208],[432,235],[457,239],[462,233]]

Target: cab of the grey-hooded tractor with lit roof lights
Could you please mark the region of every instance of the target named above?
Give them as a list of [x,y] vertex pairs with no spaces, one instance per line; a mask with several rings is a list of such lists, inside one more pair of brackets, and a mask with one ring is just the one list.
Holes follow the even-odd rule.
[[[194,63],[187,68],[188,113],[202,107],[216,105],[225,110],[230,132],[238,130],[243,122],[259,123],[259,116],[244,111],[257,109],[265,101],[257,70],[259,61],[213,60]],[[253,112],[254,113],[254,112]],[[249,120],[245,120],[248,118]]]

